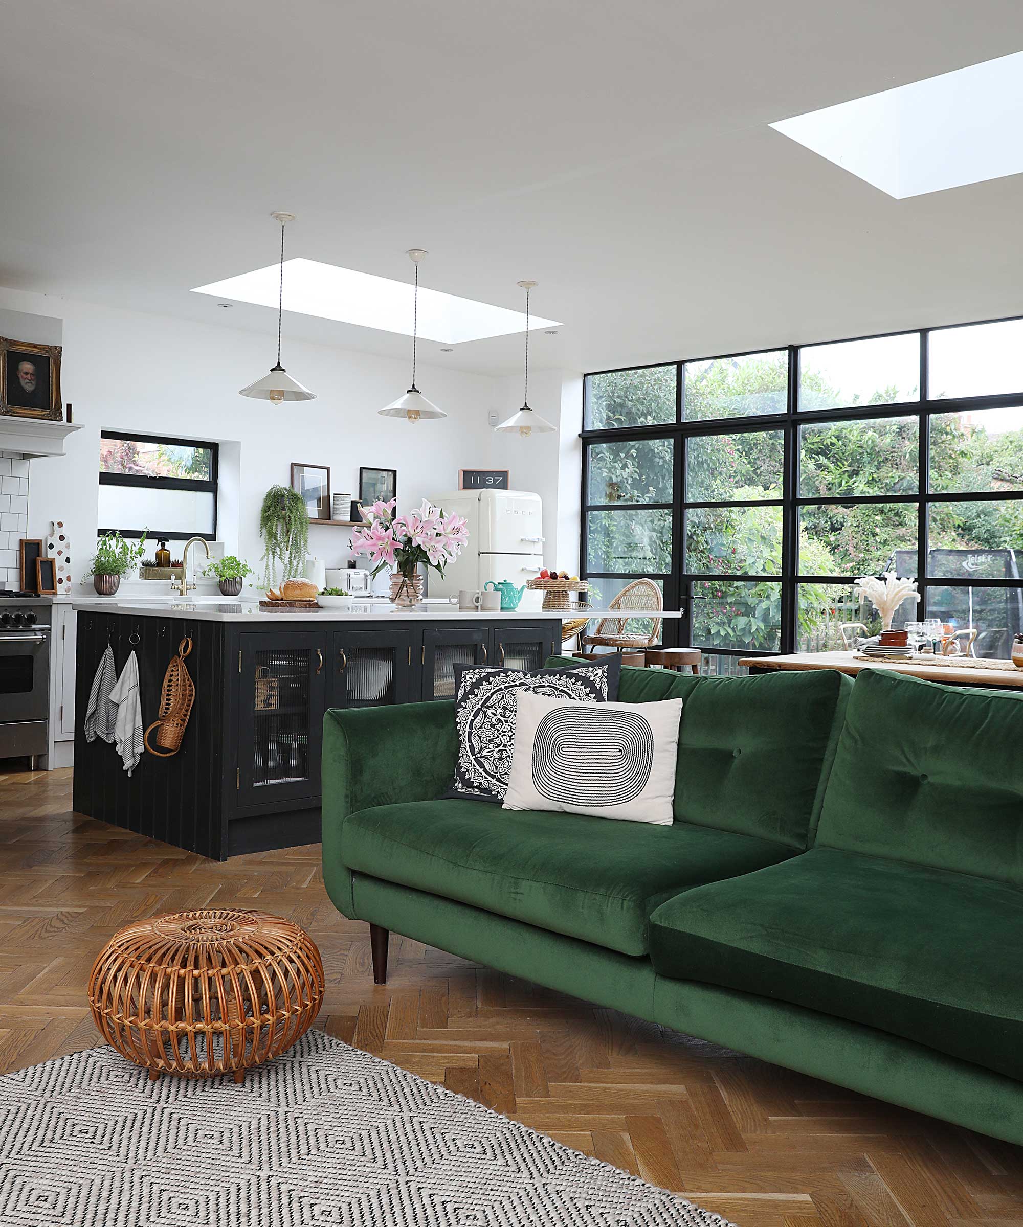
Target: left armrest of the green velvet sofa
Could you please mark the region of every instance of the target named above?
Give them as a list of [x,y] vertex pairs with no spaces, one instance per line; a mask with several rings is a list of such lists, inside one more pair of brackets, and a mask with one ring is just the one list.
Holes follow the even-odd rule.
[[345,818],[375,805],[435,801],[454,782],[454,703],[332,708],[323,717],[323,877],[351,917],[351,875],[341,856]]

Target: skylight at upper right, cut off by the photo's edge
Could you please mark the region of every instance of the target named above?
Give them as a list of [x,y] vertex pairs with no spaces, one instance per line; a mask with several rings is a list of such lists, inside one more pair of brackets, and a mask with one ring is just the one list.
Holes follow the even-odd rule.
[[897,200],[1023,172],[1023,52],[771,124]]

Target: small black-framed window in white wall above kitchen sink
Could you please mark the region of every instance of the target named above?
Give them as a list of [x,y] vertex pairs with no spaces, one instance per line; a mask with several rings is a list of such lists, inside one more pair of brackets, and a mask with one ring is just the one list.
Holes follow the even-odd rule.
[[216,443],[102,431],[99,531],[216,539]]

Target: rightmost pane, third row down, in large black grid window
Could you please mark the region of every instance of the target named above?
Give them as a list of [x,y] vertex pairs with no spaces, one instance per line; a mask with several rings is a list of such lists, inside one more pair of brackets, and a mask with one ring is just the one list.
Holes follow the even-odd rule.
[[962,579],[1019,579],[1023,501],[931,503],[927,574]]

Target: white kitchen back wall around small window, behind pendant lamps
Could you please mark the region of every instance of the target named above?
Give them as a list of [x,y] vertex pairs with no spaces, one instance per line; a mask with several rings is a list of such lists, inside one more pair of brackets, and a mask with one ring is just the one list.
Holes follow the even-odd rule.
[[[332,491],[352,496],[360,465],[397,469],[404,508],[457,486],[459,467],[492,463],[488,411],[496,382],[484,375],[420,364],[420,387],[448,417],[410,425],[377,413],[408,387],[408,363],[286,341],[289,373],[317,399],[278,411],[238,395],[273,364],[269,336],[0,288],[4,309],[63,320],[63,396],[84,429],[68,439],[64,459],[31,463],[28,535],[42,537],[50,519],[63,519],[75,580],[95,542],[101,429],[226,444],[221,464],[228,485],[233,467],[237,490],[222,491],[219,535],[228,552],[237,550],[257,568],[259,506],[269,486],[289,483],[292,460],[329,465]],[[343,566],[348,541],[344,529],[312,528],[309,552]]]

